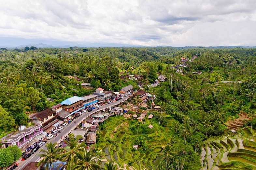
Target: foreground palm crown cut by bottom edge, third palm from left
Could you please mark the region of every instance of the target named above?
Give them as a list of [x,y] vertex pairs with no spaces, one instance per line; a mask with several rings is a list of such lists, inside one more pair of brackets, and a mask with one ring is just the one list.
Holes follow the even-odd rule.
[[92,160],[91,151],[77,154],[77,163],[74,170],[98,170],[101,169],[99,164]]

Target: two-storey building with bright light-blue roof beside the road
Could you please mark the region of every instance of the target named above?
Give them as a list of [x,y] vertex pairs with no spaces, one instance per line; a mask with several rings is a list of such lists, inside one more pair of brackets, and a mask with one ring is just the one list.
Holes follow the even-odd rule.
[[83,105],[83,97],[73,96],[61,102],[63,110],[75,113]]

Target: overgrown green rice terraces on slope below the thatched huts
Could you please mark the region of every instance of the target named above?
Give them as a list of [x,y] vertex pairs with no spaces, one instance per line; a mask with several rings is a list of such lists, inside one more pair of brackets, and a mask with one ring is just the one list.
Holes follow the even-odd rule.
[[[98,134],[98,143],[95,147],[101,148],[103,153],[101,158],[114,161],[119,169],[158,169],[158,164],[162,160],[162,148],[168,142],[168,132],[163,135],[164,130],[158,128],[157,122],[145,120],[145,125],[140,124],[146,130],[147,142],[149,149],[146,151],[133,149],[133,141],[140,134],[140,130],[129,130],[130,123],[137,123],[137,120],[124,119],[122,116],[110,118],[105,125],[102,125]],[[152,129],[148,125],[152,124]],[[146,127],[146,128],[145,128]],[[103,166],[104,161],[100,164]]]

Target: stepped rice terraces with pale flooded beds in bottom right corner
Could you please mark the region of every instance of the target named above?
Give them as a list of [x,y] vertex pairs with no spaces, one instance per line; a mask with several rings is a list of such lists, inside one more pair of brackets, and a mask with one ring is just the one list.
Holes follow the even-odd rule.
[[256,138],[249,128],[235,135],[211,137],[201,151],[201,170],[255,170]]

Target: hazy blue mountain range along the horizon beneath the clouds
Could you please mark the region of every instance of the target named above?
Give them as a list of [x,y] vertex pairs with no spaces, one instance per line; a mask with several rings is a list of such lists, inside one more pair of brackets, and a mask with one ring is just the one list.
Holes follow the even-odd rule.
[[[24,45],[23,45],[24,44]],[[27,45],[25,45],[27,44]],[[24,47],[37,47],[37,48],[68,48],[68,47],[149,47],[142,45],[132,45],[132,44],[120,44],[120,43],[78,43],[78,42],[68,42],[60,40],[40,40],[40,39],[23,39],[23,38],[13,38],[13,37],[0,37],[0,47],[1,48],[24,48]],[[156,46],[156,47],[173,47],[173,46]],[[179,48],[200,48],[203,46],[185,46]],[[209,46],[207,48],[256,48],[256,46]]]

